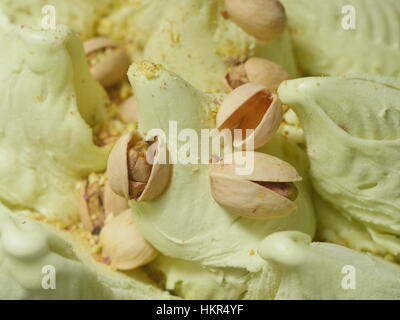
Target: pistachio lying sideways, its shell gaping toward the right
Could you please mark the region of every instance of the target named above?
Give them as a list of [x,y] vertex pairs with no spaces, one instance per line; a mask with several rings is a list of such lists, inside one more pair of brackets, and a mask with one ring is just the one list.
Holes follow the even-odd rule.
[[247,157],[245,153],[249,152],[254,159],[254,167],[249,174],[238,174],[237,170],[245,165],[235,160],[238,153],[215,165],[210,173],[213,198],[228,212],[247,218],[271,219],[289,215],[297,205],[256,182],[300,181],[296,169],[285,161],[260,152],[244,151],[242,156]]

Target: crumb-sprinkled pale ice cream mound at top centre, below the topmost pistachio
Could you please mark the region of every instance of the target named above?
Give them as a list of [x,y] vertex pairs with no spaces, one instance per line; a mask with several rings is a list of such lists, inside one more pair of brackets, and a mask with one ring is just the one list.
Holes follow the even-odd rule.
[[136,62],[161,63],[203,91],[226,90],[228,67],[250,56],[298,74],[287,32],[270,42],[257,41],[223,11],[223,0],[142,0],[113,12],[99,30],[134,39],[130,51]]

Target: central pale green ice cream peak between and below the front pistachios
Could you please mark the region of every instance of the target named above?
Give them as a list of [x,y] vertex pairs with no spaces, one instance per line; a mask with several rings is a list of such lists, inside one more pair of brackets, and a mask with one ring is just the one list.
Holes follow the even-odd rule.
[[[170,120],[177,121],[178,132],[192,128],[199,136],[201,128],[215,126],[212,112],[218,108],[221,96],[203,94],[177,75],[150,63],[134,64],[128,76],[139,103],[139,129],[143,133],[160,128],[168,136]],[[178,142],[178,147],[183,144]],[[298,166],[300,149],[279,137],[273,145],[265,150],[292,159]],[[301,230],[313,236],[315,218],[306,178],[297,184],[298,210],[285,218],[254,220],[231,214],[214,201],[210,193],[211,168],[174,164],[170,184],[159,198],[131,202],[142,234],[160,252],[202,267],[260,274],[265,262],[256,249],[265,236],[281,230]],[[306,176],[301,166],[299,171]],[[228,270],[228,277],[230,273]]]

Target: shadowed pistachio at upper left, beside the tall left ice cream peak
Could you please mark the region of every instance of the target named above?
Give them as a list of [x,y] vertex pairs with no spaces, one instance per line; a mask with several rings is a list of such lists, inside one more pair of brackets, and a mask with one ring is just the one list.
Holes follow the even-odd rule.
[[96,37],[84,43],[90,72],[104,87],[120,82],[131,63],[125,49],[115,41]]

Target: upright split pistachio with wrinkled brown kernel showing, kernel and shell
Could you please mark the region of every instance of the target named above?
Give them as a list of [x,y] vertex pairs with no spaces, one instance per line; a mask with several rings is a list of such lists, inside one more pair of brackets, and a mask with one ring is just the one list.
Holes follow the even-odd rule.
[[[147,161],[149,147],[154,150],[152,164]],[[166,144],[160,138],[149,144],[138,134],[122,136],[108,158],[107,173],[112,190],[125,199],[155,199],[169,182],[171,166],[167,154]]]

